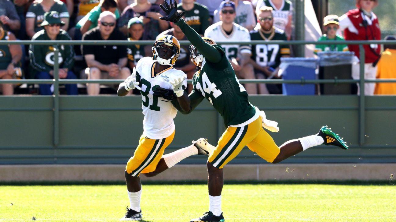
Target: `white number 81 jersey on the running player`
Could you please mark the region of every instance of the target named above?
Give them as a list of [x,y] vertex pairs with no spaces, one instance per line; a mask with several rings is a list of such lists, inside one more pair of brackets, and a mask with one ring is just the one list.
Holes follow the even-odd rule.
[[[175,77],[181,77],[185,73],[181,70],[175,70],[172,67],[154,75],[154,66],[156,60],[151,57],[144,57],[137,62],[136,72],[137,81],[139,81],[142,90],[142,109],[143,115],[143,135],[150,139],[166,138],[175,130],[173,118],[176,117],[177,109],[171,102],[166,102],[164,98],[153,96],[153,90],[157,87],[171,89],[172,85],[169,80]],[[187,78],[183,81],[187,87]]]

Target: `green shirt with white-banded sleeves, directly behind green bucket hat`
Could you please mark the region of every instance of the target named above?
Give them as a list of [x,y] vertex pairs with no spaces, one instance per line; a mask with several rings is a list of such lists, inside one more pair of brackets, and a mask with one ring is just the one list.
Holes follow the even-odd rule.
[[[66,4],[61,1],[55,0],[55,3],[51,6],[49,11],[57,11],[59,13],[59,18],[70,17]],[[44,11],[40,3],[33,3],[30,5],[29,10],[26,13],[26,18],[34,18],[34,32],[44,29],[40,26],[44,21],[44,13],[46,13],[46,11]]]

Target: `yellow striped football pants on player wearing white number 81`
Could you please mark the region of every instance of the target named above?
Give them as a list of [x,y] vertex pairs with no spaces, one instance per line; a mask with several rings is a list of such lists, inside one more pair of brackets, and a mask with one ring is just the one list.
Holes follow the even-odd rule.
[[131,173],[133,177],[137,177],[141,173],[154,171],[164,154],[165,148],[169,146],[174,136],[175,131],[173,131],[172,135],[163,139],[149,139],[142,135],[135,154],[126,164],[126,171]]

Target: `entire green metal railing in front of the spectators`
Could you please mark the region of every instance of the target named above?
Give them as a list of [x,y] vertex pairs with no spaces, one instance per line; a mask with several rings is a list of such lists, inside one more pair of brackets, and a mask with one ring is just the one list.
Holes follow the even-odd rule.
[[[101,84],[117,84],[124,81],[124,79],[59,79],[59,63],[58,63],[58,47],[59,45],[151,45],[153,41],[0,41],[0,45],[53,45],[55,50],[54,55],[54,79],[0,79],[0,84],[5,83],[27,83],[27,84],[53,84],[54,85],[54,95],[53,95],[53,124],[54,124],[54,135],[53,143],[54,146],[59,144],[59,84],[74,84],[74,83],[101,83]],[[181,45],[189,45],[189,41],[180,41]],[[240,44],[240,41],[228,41],[228,42],[218,42],[217,44]],[[278,45],[307,45],[307,44],[317,44],[317,41],[249,41],[249,44],[278,44]],[[324,43],[324,42],[320,42]],[[266,83],[266,84],[279,84],[279,83],[289,83],[289,84],[314,84],[314,83],[324,83],[324,84],[346,84],[346,83],[358,83],[360,86],[360,92],[364,92],[364,83],[395,83],[396,79],[365,79],[364,78],[364,56],[365,51],[363,45],[367,44],[396,44],[395,41],[385,41],[385,40],[370,40],[370,41],[327,41],[326,44],[339,45],[359,45],[360,49],[360,79],[318,79],[318,80],[283,80],[283,79],[241,79],[241,83]],[[191,80],[188,81],[191,83]],[[359,144],[363,145],[365,140],[365,95],[360,93],[359,96]]]

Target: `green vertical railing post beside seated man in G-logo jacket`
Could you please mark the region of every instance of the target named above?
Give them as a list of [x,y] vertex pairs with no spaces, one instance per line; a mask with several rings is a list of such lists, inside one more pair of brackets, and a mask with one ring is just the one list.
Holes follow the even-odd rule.
[[[59,49],[54,45],[53,64],[53,145],[59,144]],[[55,155],[56,158],[56,155]]]

